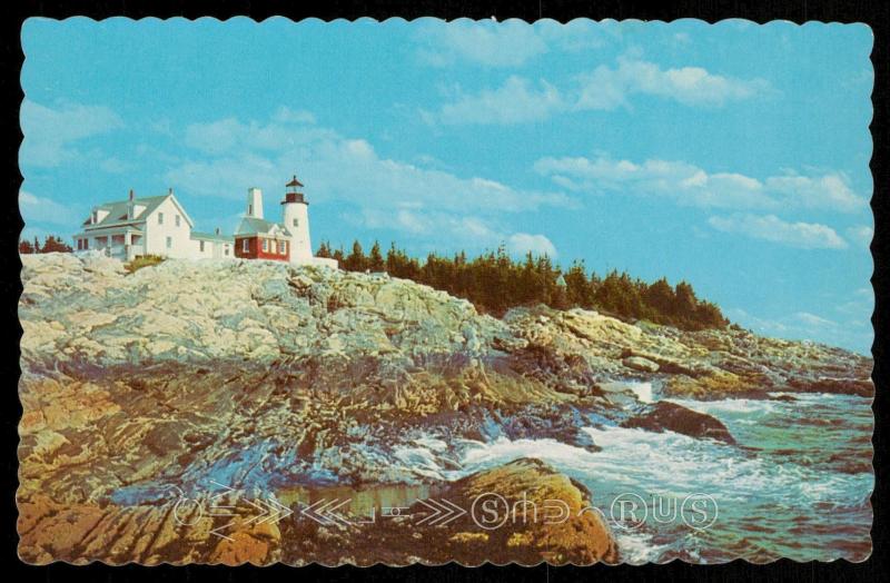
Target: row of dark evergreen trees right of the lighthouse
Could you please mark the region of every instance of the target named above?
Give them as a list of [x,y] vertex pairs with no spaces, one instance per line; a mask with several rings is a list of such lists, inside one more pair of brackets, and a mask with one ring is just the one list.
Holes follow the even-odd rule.
[[503,246],[473,258],[464,251],[454,256],[431,253],[421,261],[395,244],[384,255],[375,241],[365,254],[356,240],[348,254],[323,243],[316,255],[337,259],[340,268],[348,271],[385,271],[442,289],[496,317],[512,307],[546,304],[556,309],[595,309],[623,319],[644,319],[688,330],[729,324],[720,308],[700,299],[686,281],[671,286],[661,278],[647,284],[617,270],[601,277],[589,271],[583,260],[563,270],[546,255],[528,253],[514,260]]

